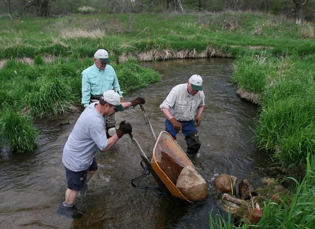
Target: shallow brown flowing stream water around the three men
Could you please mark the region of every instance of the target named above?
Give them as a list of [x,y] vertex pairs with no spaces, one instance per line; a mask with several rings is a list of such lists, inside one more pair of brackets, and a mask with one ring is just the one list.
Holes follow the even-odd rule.
[[[143,169],[139,147],[125,135],[106,153],[96,154],[99,170],[76,202],[83,217],[72,219],[56,213],[66,189],[63,145],[80,115],[69,114],[36,121],[41,133],[34,153],[11,154],[5,148],[0,152],[0,228],[209,228],[211,210],[212,215],[224,215],[213,188],[216,175],[228,173],[239,180],[249,179],[254,187],[261,184],[261,177],[253,175],[267,163],[267,156],[256,149],[252,138],[257,109],[236,95],[231,85],[232,60],[181,59],[145,64],[157,70],[162,81],[128,93],[125,100],[138,96],[146,99],[144,109],[157,136],[164,130],[165,120],[159,105],[170,89],[187,83],[193,74],[203,77],[206,106],[197,127],[202,146],[190,159],[208,183],[207,199],[189,204],[158,191],[132,187],[130,181]],[[140,107],[118,113],[116,119],[132,124],[134,138],[150,156],[155,141]],[[185,151],[183,134],[177,137]],[[157,187],[152,175],[136,183]]]

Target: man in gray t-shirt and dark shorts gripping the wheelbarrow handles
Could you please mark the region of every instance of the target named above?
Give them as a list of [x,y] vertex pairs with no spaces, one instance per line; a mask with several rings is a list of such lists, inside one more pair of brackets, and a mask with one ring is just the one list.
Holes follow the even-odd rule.
[[[73,210],[73,203],[78,192],[97,171],[95,159],[97,148],[106,151],[124,134],[132,131],[130,123],[122,121],[116,133],[107,139],[104,122],[106,117],[140,103],[145,103],[141,97],[131,102],[121,103],[120,96],[115,90],[107,90],[99,102],[90,104],[80,115],[63,147],[62,161],[65,167],[67,190],[65,201],[58,209],[59,213],[67,214],[63,210]],[[72,213],[76,214],[75,211]]]

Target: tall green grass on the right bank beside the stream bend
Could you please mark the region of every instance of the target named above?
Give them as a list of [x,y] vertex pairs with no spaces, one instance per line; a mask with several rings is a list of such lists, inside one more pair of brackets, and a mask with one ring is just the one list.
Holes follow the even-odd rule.
[[262,99],[256,125],[258,146],[283,165],[306,163],[315,149],[314,55],[239,58],[234,80]]

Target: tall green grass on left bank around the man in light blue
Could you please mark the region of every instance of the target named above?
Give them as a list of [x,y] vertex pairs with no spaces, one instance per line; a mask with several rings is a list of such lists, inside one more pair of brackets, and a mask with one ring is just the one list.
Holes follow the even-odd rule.
[[[115,57],[111,58],[115,65]],[[0,114],[14,121],[5,119],[3,123],[6,125],[1,130],[2,138],[9,144],[11,151],[29,152],[34,149],[35,129],[30,117],[54,117],[78,111],[81,103],[81,72],[93,63],[92,57],[81,59],[72,55],[68,60],[57,57],[50,63],[36,56],[33,65],[14,59],[4,64],[0,69]],[[157,72],[141,67],[135,59],[114,67],[125,93],[160,80]],[[7,113],[6,108],[19,115]],[[22,125],[25,125],[26,130]],[[21,141],[21,135],[27,134],[30,134],[28,139],[23,137],[26,142]]]

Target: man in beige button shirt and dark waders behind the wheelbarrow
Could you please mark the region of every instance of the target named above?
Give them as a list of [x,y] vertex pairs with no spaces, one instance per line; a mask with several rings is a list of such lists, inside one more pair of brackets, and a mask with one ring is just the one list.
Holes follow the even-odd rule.
[[187,143],[186,152],[189,154],[198,153],[201,146],[195,127],[201,123],[204,105],[202,78],[199,75],[192,75],[188,83],[174,86],[159,106],[166,117],[165,131],[175,140],[178,132],[183,131]]

